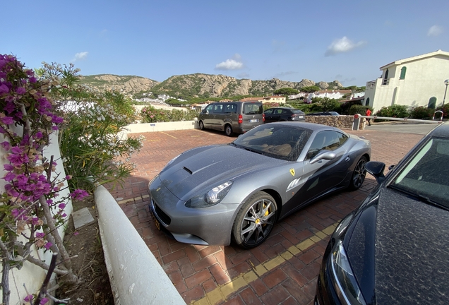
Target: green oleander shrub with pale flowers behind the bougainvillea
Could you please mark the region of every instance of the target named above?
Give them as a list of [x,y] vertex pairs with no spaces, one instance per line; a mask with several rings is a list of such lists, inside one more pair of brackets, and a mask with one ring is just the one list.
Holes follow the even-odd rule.
[[116,91],[94,91],[79,84],[73,65],[45,64],[42,77],[59,80],[51,95],[59,101],[66,124],[59,133],[64,168],[71,189],[93,191],[97,184],[122,184],[134,169],[133,152],[142,139],[121,134],[136,121],[131,99]]

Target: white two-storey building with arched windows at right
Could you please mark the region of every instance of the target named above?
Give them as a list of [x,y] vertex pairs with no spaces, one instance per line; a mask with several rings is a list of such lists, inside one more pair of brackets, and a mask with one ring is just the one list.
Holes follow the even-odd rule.
[[438,50],[381,66],[382,76],[366,83],[365,104],[376,111],[393,104],[435,107],[443,104],[449,79],[449,52]]

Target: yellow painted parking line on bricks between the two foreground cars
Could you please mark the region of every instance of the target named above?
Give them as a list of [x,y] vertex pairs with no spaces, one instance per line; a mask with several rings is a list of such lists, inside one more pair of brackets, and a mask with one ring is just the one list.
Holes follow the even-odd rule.
[[228,282],[224,285],[218,286],[213,289],[211,292],[205,294],[205,297],[198,299],[197,301],[191,301],[191,305],[213,305],[217,304],[220,301],[226,301],[227,297],[234,292],[239,291],[242,287],[249,285],[251,282],[254,282],[258,278],[260,278],[268,271],[273,270],[274,268],[279,267],[285,261],[289,261],[290,258],[293,258],[298,253],[309,249],[314,244],[318,243],[322,239],[325,239],[330,236],[337,227],[338,222],[335,222],[333,225],[326,227],[325,229],[316,232],[312,237],[301,241],[299,244],[295,246],[290,246],[287,251],[284,251],[277,255],[275,258],[271,258],[260,265],[253,265],[251,263],[252,270],[242,273],[241,275],[234,277],[231,282]]

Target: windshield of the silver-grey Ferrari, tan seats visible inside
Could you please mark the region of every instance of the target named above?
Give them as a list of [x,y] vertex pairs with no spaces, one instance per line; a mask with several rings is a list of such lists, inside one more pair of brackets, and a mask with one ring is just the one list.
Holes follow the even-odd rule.
[[239,136],[232,144],[269,157],[296,161],[311,134],[311,130],[299,126],[264,124]]

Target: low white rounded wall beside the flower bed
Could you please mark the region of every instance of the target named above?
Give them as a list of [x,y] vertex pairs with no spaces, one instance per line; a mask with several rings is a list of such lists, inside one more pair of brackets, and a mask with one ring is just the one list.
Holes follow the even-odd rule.
[[186,304],[109,191],[94,195],[115,304]]

